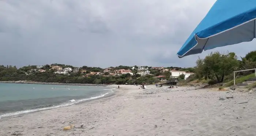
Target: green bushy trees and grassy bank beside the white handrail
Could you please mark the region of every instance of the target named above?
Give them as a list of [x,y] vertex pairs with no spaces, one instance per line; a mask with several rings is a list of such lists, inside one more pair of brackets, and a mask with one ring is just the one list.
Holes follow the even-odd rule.
[[[237,57],[234,52],[212,52],[204,59],[196,60],[195,74],[187,78],[184,83],[208,83],[210,85],[224,83],[225,86],[234,84],[233,71],[256,68],[256,51],[251,51],[244,57]],[[236,72],[236,83],[242,83],[250,77],[255,77],[253,71]]]

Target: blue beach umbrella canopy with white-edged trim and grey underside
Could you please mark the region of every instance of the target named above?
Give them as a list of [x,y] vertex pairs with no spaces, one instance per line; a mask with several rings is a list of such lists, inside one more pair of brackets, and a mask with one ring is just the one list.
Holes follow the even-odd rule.
[[178,51],[178,57],[255,38],[256,0],[217,0]]

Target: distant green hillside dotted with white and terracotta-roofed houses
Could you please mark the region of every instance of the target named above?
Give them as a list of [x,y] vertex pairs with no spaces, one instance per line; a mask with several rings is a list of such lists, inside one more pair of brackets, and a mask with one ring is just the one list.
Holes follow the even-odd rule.
[[173,78],[184,80],[194,68],[118,66],[74,67],[65,64],[29,65],[21,68],[0,65],[0,81],[37,81],[81,84],[155,84]]

